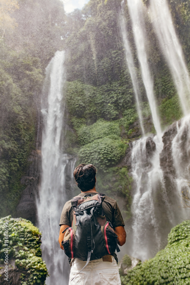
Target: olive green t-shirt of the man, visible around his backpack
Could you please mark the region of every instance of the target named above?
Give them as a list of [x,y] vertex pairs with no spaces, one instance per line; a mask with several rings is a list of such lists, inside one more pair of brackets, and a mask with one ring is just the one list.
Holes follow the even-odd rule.
[[[78,196],[84,197],[85,195],[88,195],[88,194],[95,195],[97,193],[98,192],[80,193]],[[102,202],[102,208],[106,215],[107,221],[112,223],[113,228],[125,225],[119,206],[117,205],[117,202],[114,199],[108,196],[105,196]],[[72,222],[73,222],[73,208],[71,206],[71,200],[70,200],[66,202],[63,207],[59,225],[60,226],[68,225],[71,227]]]

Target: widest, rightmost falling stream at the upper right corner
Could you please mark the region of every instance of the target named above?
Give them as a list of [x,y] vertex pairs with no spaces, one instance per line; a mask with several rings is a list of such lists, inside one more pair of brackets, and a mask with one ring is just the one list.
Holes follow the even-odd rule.
[[150,12],[160,46],[169,64],[171,74],[185,115],[189,113],[190,78],[183,51],[172,23],[166,0],[150,1]]

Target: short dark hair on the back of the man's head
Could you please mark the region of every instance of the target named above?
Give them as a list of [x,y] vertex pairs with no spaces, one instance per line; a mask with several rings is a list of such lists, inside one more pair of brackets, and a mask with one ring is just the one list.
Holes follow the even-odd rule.
[[78,188],[83,192],[93,189],[96,183],[97,169],[92,164],[79,164],[74,172],[74,178]]

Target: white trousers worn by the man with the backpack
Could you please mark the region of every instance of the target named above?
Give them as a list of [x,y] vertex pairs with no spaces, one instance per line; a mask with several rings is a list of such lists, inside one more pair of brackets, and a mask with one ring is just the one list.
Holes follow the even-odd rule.
[[103,261],[102,258],[89,261],[83,271],[72,280],[86,264],[86,261],[75,258],[71,266],[69,285],[120,285],[119,268],[115,258],[111,258],[112,262]]

